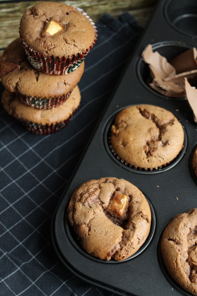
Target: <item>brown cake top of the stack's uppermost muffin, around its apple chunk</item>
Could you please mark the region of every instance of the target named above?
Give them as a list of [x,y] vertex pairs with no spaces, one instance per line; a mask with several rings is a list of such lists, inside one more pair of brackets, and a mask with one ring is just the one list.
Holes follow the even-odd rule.
[[[61,30],[46,33],[53,21]],[[57,2],[38,2],[30,7],[20,21],[24,41],[39,54],[55,57],[71,56],[89,49],[95,38],[93,23],[78,9]]]

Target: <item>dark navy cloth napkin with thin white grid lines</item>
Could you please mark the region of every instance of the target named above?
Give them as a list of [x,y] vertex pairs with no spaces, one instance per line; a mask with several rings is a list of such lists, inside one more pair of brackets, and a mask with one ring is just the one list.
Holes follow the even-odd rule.
[[105,14],[96,25],[78,84],[82,101],[66,128],[34,135],[0,104],[0,295],[112,295],[71,274],[50,234],[56,205],[141,33],[128,13],[118,20]]

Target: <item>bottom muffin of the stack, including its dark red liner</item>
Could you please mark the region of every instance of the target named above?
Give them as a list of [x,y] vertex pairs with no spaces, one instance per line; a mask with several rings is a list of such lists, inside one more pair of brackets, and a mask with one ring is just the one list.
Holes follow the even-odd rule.
[[15,93],[5,89],[1,101],[4,109],[32,133],[47,135],[61,130],[79,107],[81,95],[75,86],[69,98],[57,108],[38,110],[23,104]]

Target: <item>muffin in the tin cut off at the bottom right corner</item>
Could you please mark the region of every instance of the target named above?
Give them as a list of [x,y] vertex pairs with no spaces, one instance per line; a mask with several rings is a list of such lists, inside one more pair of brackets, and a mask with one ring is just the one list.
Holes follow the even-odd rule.
[[167,271],[186,291],[197,295],[197,209],[176,215],[165,228],[161,252]]

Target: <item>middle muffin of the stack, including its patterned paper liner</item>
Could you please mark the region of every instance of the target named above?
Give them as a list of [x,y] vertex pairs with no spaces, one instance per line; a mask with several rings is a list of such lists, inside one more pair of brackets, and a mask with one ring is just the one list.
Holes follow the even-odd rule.
[[30,65],[20,38],[4,50],[0,58],[2,84],[15,92],[27,106],[51,109],[61,105],[80,81],[84,62],[67,75],[46,75]]

